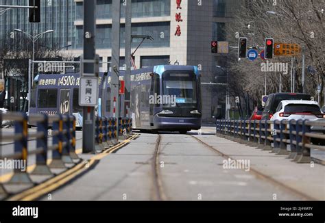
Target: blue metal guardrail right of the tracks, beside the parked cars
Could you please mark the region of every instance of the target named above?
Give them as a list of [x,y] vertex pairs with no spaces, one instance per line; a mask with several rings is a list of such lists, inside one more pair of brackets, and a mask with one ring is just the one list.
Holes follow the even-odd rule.
[[[311,162],[311,148],[325,151],[325,135],[313,133],[324,123],[309,120],[217,120],[216,134],[241,144],[288,155],[297,163]],[[289,145],[290,151],[287,150]]]

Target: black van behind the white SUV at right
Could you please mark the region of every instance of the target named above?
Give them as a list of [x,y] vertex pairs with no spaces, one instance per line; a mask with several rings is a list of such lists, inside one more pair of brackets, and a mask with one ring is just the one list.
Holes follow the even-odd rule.
[[279,103],[284,100],[306,100],[310,101],[311,96],[309,94],[296,94],[296,93],[276,93],[270,94],[267,102],[265,103],[262,118],[269,120],[276,113],[276,108]]

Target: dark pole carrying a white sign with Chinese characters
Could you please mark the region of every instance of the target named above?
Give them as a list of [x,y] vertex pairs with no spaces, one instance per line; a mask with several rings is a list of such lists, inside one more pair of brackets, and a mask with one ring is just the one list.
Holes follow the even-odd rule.
[[[83,106],[82,151],[95,153],[95,106],[98,99],[99,57],[95,54],[96,1],[84,1],[84,54],[81,60],[80,105]],[[96,89],[97,88],[97,89]],[[91,89],[91,95],[87,94]],[[86,92],[82,94],[82,92]],[[84,104],[83,104],[84,103]]]

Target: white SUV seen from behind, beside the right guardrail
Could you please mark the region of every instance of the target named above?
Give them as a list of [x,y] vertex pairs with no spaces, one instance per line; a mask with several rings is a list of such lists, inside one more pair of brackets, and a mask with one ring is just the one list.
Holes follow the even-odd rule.
[[318,120],[325,118],[316,101],[281,101],[271,120]]

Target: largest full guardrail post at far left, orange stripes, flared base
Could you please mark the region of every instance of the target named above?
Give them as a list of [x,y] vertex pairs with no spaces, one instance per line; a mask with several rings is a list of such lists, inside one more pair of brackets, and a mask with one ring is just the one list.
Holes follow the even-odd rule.
[[[33,183],[27,174],[27,140],[28,140],[28,126],[27,126],[27,115],[22,113],[23,120],[14,122],[14,133],[21,135],[21,140],[15,140],[14,142],[14,153],[21,154],[19,160],[20,165],[14,168],[14,175],[8,181],[8,184],[12,183]],[[24,168],[25,167],[25,168]]]

